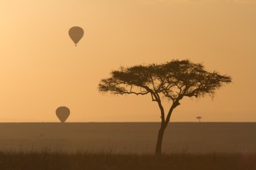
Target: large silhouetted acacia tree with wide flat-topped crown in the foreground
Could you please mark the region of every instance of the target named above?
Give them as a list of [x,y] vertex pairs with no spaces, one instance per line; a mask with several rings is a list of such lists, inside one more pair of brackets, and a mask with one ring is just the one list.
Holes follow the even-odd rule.
[[[220,75],[216,71],[206,71],[202,64],[190,60],[171,60],[161,65],[137,65],[121,67],[112,71],[111,76],[102,79],[99,91],[115,95],[135,94],[151,95],[160,108],[161,126],[156,142],[156,155],[162,152],[164,130],[170,122],[174,108],[180,105],[183,97],[214,97],[216,89],[224,83],[231,83],[231,77]],[[170,108],[164,112],[162,99],[170,101]]]

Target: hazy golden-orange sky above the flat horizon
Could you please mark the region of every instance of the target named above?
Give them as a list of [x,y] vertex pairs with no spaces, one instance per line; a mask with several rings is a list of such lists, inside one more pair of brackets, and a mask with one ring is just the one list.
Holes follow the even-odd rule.
[[[183,99],[171,121],[255,122],[255,0],[0,1],[0,122],[156,122],[146,96],[102,95],[120,66],[203,62],[233,78],[212,100]],[[84,28],[77,47],[68,36]],[[169,107],[166,103],[166,107]]]

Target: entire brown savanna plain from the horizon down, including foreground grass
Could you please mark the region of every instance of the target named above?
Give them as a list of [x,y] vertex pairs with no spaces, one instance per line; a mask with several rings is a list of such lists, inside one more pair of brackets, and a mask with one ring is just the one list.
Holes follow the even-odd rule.
[[256,169],[256,123],[1,123],[0,169]]

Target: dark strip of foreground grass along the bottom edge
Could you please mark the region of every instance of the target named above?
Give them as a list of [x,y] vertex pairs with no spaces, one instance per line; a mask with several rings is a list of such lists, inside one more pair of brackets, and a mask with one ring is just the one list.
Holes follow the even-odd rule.
[[168,155],[64,153],[49,151],[0,152],[0,170],[78,169],[256,169],[256,153],[211,153]]

